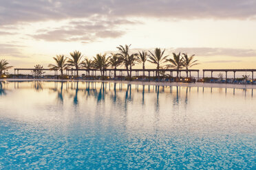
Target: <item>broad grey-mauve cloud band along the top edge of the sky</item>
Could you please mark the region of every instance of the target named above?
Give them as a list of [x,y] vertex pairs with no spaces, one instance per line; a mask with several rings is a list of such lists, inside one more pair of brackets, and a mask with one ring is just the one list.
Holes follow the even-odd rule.
[[251,19],[253,0],[1,0],[0,24],[129,16],[169,19]]

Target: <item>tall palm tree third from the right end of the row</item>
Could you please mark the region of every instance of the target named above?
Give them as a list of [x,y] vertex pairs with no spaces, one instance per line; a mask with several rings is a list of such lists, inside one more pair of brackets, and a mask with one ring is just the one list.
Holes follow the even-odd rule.
[[[164,49],[165,51],[165,49]],[[157,75],[159,78],[159,69],[160,69],[160,65],[165,62],[167,56],[164,56],[164,51],[161,51],[160,48],[156,48],[154,53],[151,53],[151,51],[149,51],[150,55],[149,55],[149,62],[156,64],[156,69],[158,69]]]

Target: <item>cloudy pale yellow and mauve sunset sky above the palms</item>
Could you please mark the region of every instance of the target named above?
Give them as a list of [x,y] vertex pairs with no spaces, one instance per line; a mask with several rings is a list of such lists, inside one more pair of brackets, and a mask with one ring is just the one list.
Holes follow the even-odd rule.
[[56,55],[131,44],[195,54],[194,69],[255,69],[255,9],[255,0],[0,0],[0,60],[47,68]]

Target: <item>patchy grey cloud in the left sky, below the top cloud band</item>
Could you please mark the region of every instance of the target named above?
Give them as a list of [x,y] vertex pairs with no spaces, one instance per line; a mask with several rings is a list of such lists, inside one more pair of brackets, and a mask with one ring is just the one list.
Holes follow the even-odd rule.
[[70,21],[55,29],[41,29],[38,34],[32,34],[36,40],[46,41],[78,41],[83,43],[94,42],[100,38],[118,38],[125,34],[120,30],[120,25],[134,24],[134,21],[115,19],[106,21],[94,19],[94,21]]

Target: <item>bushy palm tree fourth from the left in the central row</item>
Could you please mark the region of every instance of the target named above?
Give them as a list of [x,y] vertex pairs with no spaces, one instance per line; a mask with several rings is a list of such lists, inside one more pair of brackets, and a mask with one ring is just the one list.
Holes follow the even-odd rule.
[[104,55],[97,54],[96,57],[94,57],[94,67],[95,69],[100,70],[100,74],[105,76],[105,69],[107,69],[107,66],[109,66],[109,58],[106,58],[107,54]]

